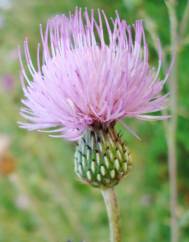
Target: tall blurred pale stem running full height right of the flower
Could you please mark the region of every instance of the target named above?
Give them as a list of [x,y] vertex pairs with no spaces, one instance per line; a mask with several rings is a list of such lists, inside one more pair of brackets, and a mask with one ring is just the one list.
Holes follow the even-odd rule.
[[[170,19],[171,37],[171,58],[174,60],[174,67],[170,75],[170,110],[171,120],[168,122],[167,144],[168,144],[168,165],[169,165],[169,187],[170,187],[170,212],[171,212],[171,242],[179,241],[179,227],[177,219],[177,99],[178,99],[178,19],[176,14],[177,0],[167,1],[167,8]],[[185,28],[185,27],[184,27]]]

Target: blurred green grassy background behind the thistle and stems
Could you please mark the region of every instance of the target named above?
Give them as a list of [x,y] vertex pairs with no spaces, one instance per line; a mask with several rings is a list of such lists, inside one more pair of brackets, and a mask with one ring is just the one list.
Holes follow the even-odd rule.
[[[169,55],[169,17],[163,0],[0,0],[0,147],[6,146],[0,148],[0,242],[108,241],[101,194],[81,184],[74,174],[74,144],[17,126],[22,97],[17,46],[28,37],[35,60],[39,24],[75,6],[103,8],[108,16],[114,16],[117,9],[129,23],[143,18],[151,62],[157,65],[156,34]],[[185,6],[185,0],[178,1],[178,19]],[[179,242],[189,241],[188,43],[187,30],[178,64]],[[122,129],[134,161],[130,175],[116,188],[123,242],[168,242],[169,180],[163,123],[131,120],[130,125],[142,141]]]

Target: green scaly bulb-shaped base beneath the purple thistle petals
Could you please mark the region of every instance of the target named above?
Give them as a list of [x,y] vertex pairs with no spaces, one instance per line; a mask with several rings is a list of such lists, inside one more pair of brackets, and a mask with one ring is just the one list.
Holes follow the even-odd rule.
[[91,127],[80,139],[75,171],[85,183],[98,188],[113,187],[130,167],[130,153],[114,127]]

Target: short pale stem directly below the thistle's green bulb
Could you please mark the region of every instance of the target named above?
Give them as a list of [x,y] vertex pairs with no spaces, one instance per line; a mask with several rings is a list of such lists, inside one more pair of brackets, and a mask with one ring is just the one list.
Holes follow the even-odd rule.
[[102,196],[108,213],[110,242],[121,241],[120,214],[116,194],[113,188],[102,190]]

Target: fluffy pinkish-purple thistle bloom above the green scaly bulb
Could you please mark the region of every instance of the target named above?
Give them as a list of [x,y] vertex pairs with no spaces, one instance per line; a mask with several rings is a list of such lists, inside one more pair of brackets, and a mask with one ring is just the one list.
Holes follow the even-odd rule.
[[154,112],[167,106],[168,95],[161,92],[168,74],[159,80],[161,51],[157,70],[149,65],[142,21],[129,26],[118,14],[108,20],[101,10],[96,20],[93,10],[82,14],[77,8],[69,16],[50,19],[45,33],[41,28],[41,40],[37,69],[25,41],[29,76],[20,57],[21,114],[27,120],[21,127],[78,140],[97,123],[167,118]]

